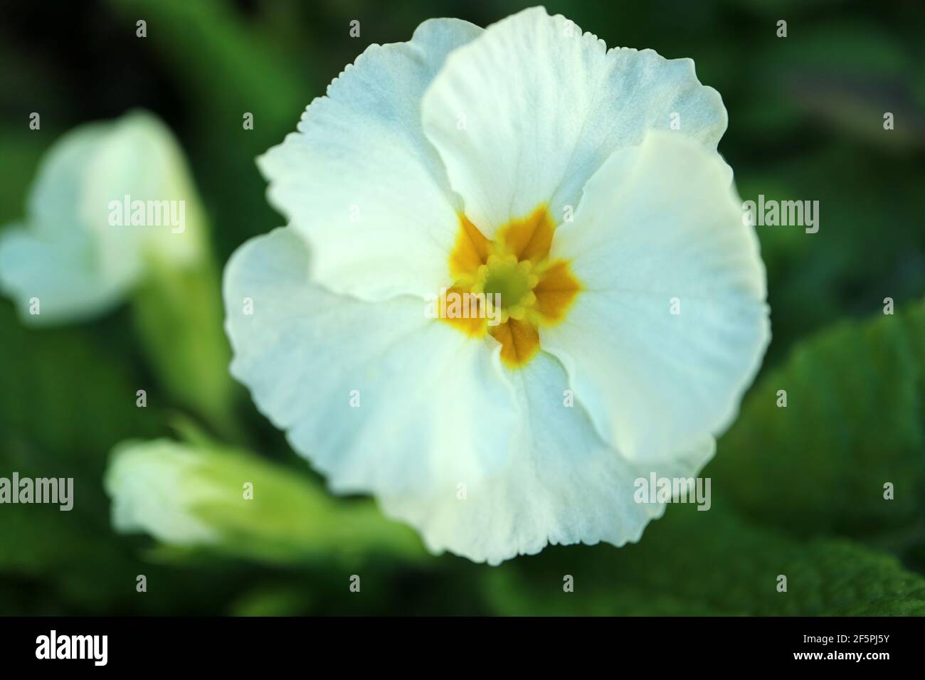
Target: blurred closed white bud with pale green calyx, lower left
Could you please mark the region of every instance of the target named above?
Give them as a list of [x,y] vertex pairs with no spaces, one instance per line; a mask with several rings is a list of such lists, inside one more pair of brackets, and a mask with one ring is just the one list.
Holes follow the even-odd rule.
[[410,529],[383,520],[370,504],[337,503],[285,467],[201,438],[123,441],[104,485],[113,528],[171,546],[269,563],[424,554]]

